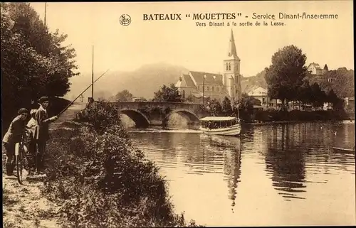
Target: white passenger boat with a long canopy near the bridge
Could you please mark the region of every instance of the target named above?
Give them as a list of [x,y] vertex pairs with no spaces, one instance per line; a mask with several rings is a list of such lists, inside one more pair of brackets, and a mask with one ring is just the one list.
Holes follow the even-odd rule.
[[205,134],[221,136],[239,136],[241,123],[231,116],[206,116],[200,119],[200,128]]

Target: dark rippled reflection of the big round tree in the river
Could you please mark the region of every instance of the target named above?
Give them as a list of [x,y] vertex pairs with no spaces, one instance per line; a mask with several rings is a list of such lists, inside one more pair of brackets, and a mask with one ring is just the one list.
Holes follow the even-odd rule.
[[[272,174],[273,187],[289,198],[305,199],[300,192],[305,192],[305,150],[299,143],[305,141],[305,131],[295,126],[283,124],[268,128],[267,151],[265,156],[266,171]],[[303,145],[303,144],[302,144]]]

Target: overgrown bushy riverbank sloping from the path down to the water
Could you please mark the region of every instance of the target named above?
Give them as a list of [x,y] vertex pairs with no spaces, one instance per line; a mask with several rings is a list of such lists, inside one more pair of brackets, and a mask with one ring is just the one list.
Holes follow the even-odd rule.
[[174,214],[159,168],[132,146],[115,108],[54,130],[43,194],[63,227],[197,227]]

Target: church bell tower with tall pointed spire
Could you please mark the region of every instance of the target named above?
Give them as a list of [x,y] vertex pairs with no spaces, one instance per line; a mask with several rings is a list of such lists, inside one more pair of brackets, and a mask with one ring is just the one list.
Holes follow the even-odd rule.
[[237,56],[234,33],[231,29],[229,50],[224,60],[224,86],[231,104],[241,99],[240,58]]

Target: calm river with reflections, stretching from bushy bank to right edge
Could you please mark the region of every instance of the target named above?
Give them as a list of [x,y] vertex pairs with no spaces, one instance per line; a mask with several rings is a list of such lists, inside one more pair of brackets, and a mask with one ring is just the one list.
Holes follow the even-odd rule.
[[241,138],[136,129],[175,210],[206,226],[356,224],[355,125],[245,126]]

